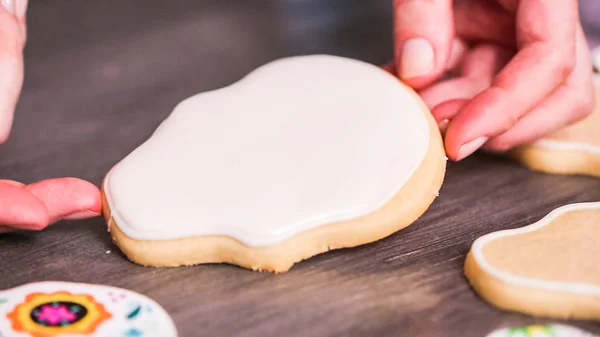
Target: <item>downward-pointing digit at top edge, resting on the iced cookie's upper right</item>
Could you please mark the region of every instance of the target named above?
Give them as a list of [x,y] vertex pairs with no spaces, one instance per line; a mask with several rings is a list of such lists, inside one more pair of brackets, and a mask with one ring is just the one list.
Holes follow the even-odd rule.
[[454,38],[451,0],[395,0],[396,71],[415,89],[446,70]]

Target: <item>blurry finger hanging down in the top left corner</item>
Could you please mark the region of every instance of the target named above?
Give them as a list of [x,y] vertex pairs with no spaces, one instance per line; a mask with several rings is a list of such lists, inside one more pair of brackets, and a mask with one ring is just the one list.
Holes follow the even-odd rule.
[[23,85],[25,43],[25,21],[16,15],[17,11],[24,15],[23,3],[2,1],[6,7],[0,6],[0,143],[4,143],[10,133]]

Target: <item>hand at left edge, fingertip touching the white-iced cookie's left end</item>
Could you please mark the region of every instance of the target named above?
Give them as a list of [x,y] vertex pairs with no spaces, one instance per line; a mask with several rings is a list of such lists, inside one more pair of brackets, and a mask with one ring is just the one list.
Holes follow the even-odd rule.
[[[0,143],[10,133],[23,83],[27,0],[0,0]],[[49,179],[24,185],[0,180],[0,233],[40,230],[62,219],[98,216],[98,188],[75,178]]]

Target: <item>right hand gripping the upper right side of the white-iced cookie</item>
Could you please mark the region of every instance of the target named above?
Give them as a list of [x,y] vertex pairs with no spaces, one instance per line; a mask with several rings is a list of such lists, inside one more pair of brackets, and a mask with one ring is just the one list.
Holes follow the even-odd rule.
[[394,15],[384,68],[423,98],[452,160],[533,142],[594,109],[577,0],[395,0]]

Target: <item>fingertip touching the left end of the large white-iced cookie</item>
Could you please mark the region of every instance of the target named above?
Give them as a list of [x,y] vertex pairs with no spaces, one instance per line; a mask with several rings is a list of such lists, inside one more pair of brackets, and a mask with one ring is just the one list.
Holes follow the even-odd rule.
[[100,191],[87,181],[50,179],[28,185],[25,189],[44,203],[50,223],[60,219],[95,217],[102,211]]

